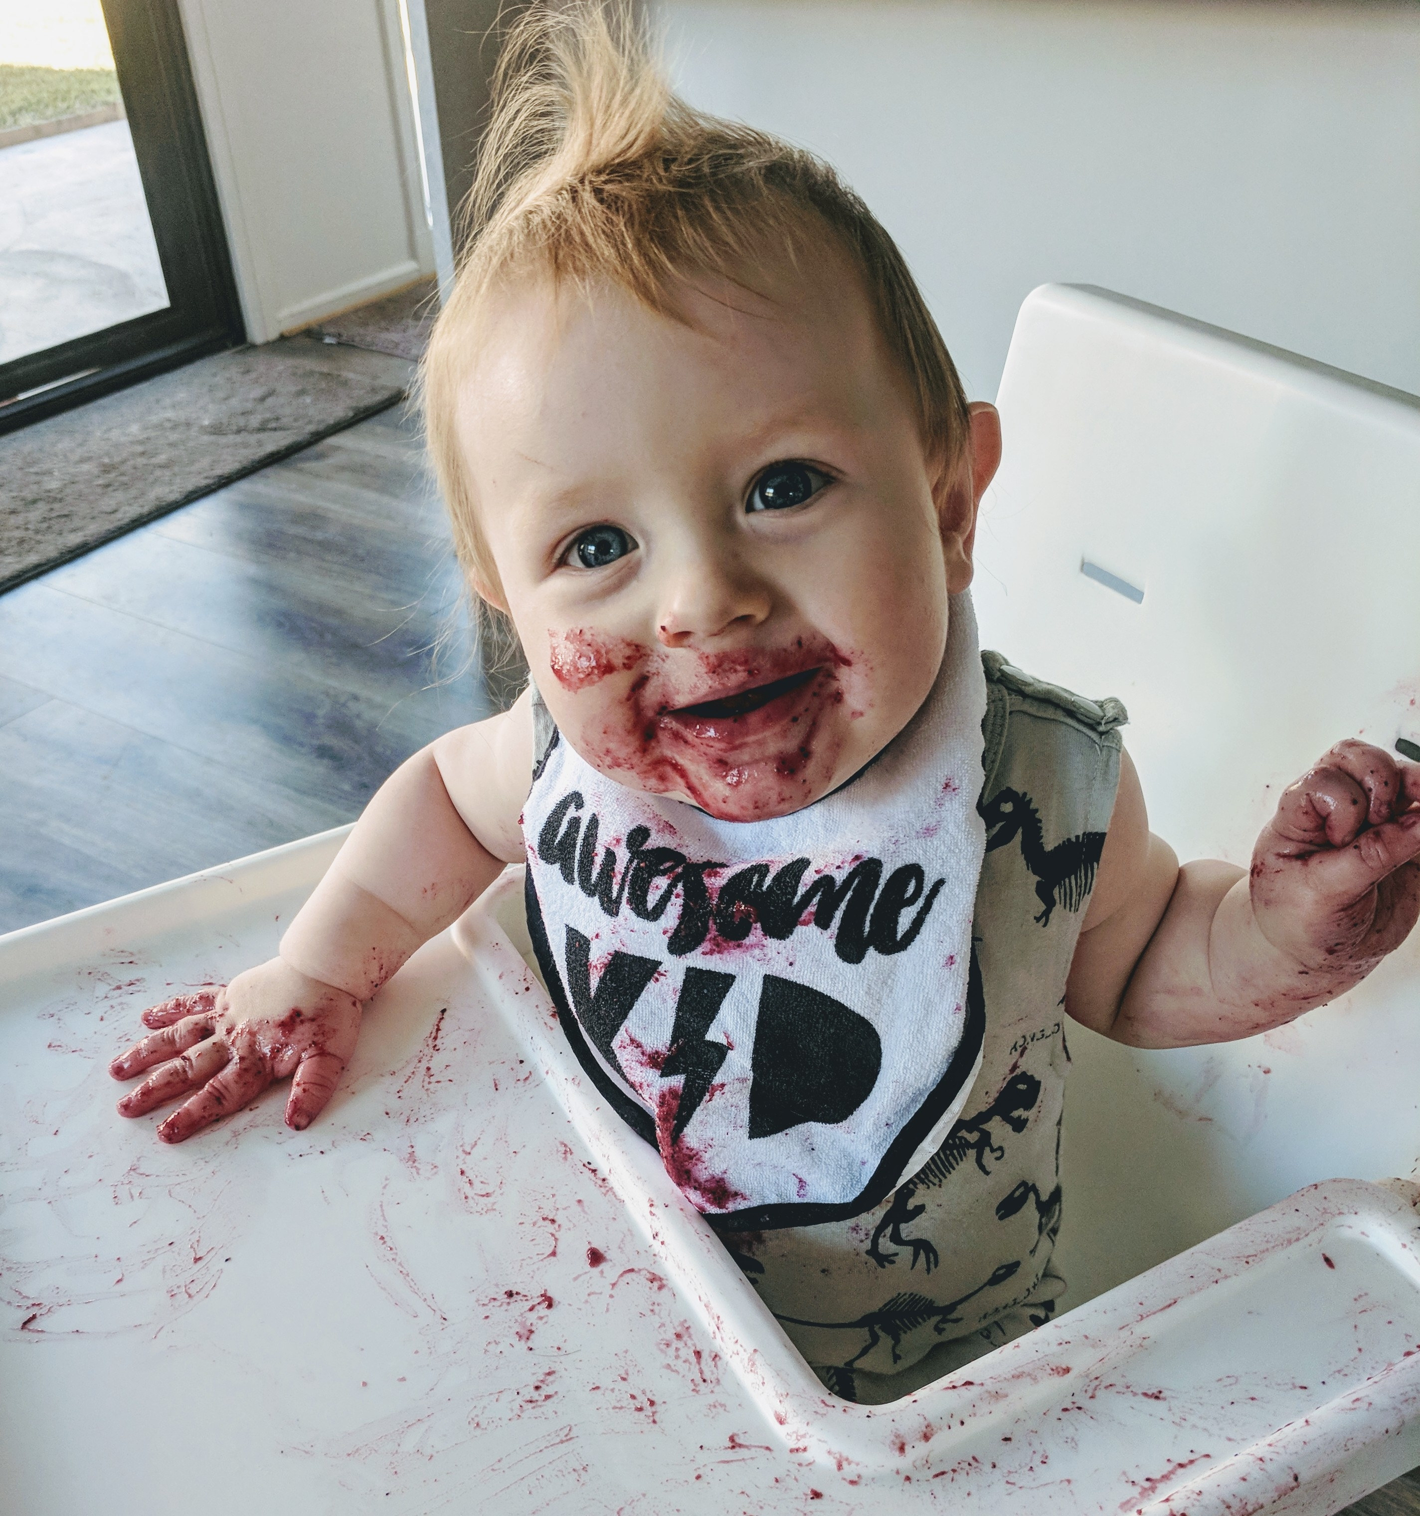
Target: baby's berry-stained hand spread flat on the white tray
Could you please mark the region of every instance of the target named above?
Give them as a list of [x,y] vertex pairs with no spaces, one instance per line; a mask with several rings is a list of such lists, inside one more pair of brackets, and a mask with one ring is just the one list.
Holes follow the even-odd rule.
[[109,1073],[132,1079],[161,1067],[118,1102],[118,1113],[144,1116],[191,1095],[158,1128],[164,1142],[182,1142],[291,1075],[286,1125],[303,1131],[335,1093],[359,1020],[355,996],[271,958],[224,988],[177,994],[142,1013],[144,1026],[162,1029],[133,1043]]

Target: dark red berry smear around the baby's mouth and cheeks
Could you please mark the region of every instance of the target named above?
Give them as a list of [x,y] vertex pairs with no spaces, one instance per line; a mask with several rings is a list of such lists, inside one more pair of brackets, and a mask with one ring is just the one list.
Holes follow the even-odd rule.
[[832,781],[846,722],[827,717],[855,661],[824,637],[702,652],[577,626],[549,641],[553,678],[585,700],[568,740],[603,773],[721,820],[788,814]]

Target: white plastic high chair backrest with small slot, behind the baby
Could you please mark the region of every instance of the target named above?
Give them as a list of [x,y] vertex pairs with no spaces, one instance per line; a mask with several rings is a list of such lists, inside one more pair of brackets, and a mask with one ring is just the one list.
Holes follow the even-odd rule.
[[[1246,866],[1279,791],[1343,737],[1420,743],[1420,399],[1046,285],[999,405],[982,646],[1123,699],[1150,825],[1181,858]],[[1262,1037],[1068,1040],[1067,1304],[1303,1184],[1420,1158],[1420,932]]]

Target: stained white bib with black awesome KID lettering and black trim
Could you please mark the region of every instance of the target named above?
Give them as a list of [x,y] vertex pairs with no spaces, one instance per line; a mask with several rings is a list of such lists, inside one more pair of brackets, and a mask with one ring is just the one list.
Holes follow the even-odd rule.
[[981,1063],[985,679],[970,597],[908,726],[832,794],[721,822],[559,735],[523,811],[562,1026],[721,1229],[843,1220],[937,1151]]

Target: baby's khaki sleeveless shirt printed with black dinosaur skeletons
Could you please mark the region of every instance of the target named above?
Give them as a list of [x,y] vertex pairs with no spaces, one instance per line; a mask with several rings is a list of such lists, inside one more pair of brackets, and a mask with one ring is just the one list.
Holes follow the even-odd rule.
[[[937,1117],[955,1116],[950,1129],[924,1164],[914,1164],[906,1178],[900,1169],[890,1176],[888,1193],[864,1186],[853,1204],[805,1208],[802,1223],[793,1207],[737,1208],[732,1196],[712,1187],[691,1192],[702,1210],[721,1213],[708,1219],[823,1383],[867,1402],[906,1395],[1041,1325],[1065,1287],[1050,1267],[1062,1214],[1065,979],[1114,807],[1117,728],[1128,717],[1118,700],[1094,702],[1032,679],[999,653],[981,659],[987,709],[976,810],[985,855],[974,890],[968,1010],[958,1008],[958,1057],[947,1060],[949,1099],[937,1108]],[[558,737],[536,691],[533,717],[541,775]],[[838,793],[852,790],[850,781]],[[546,823],[538,831],[547,831]],[[549,840],[556,835],[553,829]],[[559,982],[564,969],[552,955],[532,885],[540,838],[527,840],[529,926],[576,1046],[574,1008]],[[924,893],[924,882],[917,893],[899,887],[914,904]],[[909,925],[906,914],[896,919],[897,937]],[[841,925],[843,917],[840,931]],[[609,957],[600,957],[605,973]],[[588,991],[590,985],[588,975]],[[944,1004],[934,1001],[938,1008]],[[837,1004],[830,999],[820,1010],[832,1017]],[[946,1010],[955,1004],[946,1002]],[[971,1026],[977,1014],[979,1032]],[[703,1038],[709,1028],[703,1008],[700,1019],[705,1025],[696,1029]],[[852,1023],[840,1023],[840,1034],[844,1026]],[[577,1051],[608,1093],[606,1067],[593,1070],[588,1049]],[[862,1035],[858,1051],[871,1051]],[[706,1090],[718,1066],[708,1072],[700,1079]],[[655,1142],[655,1122],[638,1123],[633,1102],[618,1093],[623,1099],[614,1104],[623,1119]],[[920,1122],[918,1139],[924,1129]],[[920,1140],[900,1146],[911,1146],[912,1158],[923,1155]],[[879,1167],[887,1172],[893,1164]]]

